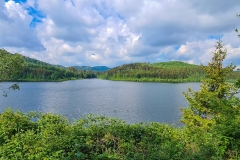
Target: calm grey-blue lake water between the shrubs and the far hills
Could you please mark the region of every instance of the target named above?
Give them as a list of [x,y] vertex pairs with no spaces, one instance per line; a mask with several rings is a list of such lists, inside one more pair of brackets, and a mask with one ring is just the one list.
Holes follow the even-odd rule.
[[[1,83],[1,87],[12,83]],[[99,79],[66,82],[21,82],[20,91],[0,96],[0,112],[14,110],[62,114],[70,120],[92,114],[118,117],[128,123],[165,122],[179,125],[183,91],[200,83],[140,83]]]

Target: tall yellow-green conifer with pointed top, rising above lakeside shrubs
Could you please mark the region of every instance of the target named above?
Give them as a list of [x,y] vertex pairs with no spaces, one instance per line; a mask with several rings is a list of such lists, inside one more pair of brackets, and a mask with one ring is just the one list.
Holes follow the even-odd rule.
[[200,91],[189,89],[188,93],[184,93],[189,107],[181,109],[182,122],[192,131],[209,131],[216,126],[228,125],[226,131],[223,131],[227,134],[233,120],[239,118],[240,103],[236,97],[238,88],[226,81],[227,74],[233,72],[235,67],[233,64],[223,66],[226,55],[227,51],[219,40],[211,62],[207,66],[202,65],[206,79],[202,81]]

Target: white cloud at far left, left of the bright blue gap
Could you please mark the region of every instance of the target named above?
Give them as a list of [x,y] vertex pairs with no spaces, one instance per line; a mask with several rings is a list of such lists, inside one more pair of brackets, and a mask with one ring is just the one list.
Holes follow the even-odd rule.
[[0,46],[26,50],[44,50],[34,28],[31,28],[31,16],[14,1],[1,2]]

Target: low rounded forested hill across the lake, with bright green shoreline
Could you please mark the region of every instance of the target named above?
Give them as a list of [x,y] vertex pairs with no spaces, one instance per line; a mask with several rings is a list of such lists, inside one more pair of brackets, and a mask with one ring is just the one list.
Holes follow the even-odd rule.
[[[102,79],[140,82],[199,82],[204,77],[201,66],[181,61],[124,64],[100,76]],[[227,78],[239,79],[240,72],[232,72]]]

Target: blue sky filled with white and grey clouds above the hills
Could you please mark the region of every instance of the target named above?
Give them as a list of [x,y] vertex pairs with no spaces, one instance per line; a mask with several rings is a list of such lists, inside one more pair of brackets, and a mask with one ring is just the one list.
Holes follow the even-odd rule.
[[63,66],[206,64],[216,42],[240,66],[239,0],[0,1],[0,48]]

